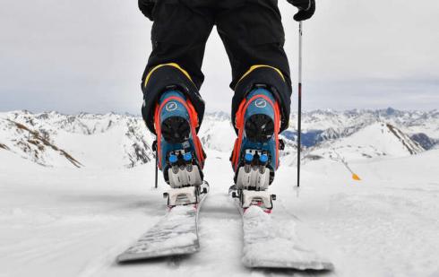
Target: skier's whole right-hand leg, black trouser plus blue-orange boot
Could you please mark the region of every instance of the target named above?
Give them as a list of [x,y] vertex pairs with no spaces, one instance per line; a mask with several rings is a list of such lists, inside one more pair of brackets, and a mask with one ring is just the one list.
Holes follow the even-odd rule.
[[233,73],[235,181],[265,189],[279,167],[278,134],[288,127],[291,96],[280,12],[276,1],[249,0],[224,10],[217,22]]

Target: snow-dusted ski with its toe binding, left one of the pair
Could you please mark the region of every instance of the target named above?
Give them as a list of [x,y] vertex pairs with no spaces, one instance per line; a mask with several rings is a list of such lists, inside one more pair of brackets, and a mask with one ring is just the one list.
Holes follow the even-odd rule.
[[208,195],[209,184],[171,188],[166,215],[141,238],[116,257],[118,263],[198,252],[198,213]]

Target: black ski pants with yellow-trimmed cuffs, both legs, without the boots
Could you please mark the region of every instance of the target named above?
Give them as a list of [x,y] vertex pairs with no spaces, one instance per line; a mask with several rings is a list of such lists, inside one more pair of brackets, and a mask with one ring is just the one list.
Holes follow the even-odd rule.
[[277,0],[157,0],[152,18],[152,53],[142,76],[142,116],[152,133],[159,95],[169,88],[185,93],[202,123],[202,58],[214,25],[232,66],[232,122],[246,93],[265,85],[280,103],[280,131],[288,127],[292,90]]

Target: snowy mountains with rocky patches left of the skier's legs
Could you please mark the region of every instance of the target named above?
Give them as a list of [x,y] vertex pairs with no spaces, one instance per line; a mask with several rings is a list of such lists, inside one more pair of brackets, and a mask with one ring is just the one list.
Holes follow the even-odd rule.
[[[44,166],[65,166],[64,158],[70,157],[68,163],[76,160],[75,166],[131,168],[154,158],[153,140],[142,118],[130,115],[0,114],[3,148]],[[68,156],[41,146],[46,144],[65,150]]]

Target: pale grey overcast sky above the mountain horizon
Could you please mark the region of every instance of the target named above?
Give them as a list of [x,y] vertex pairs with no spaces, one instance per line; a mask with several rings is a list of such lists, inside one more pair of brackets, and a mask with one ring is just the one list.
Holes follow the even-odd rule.
[[[297,82],[296,9],[279,1]],[[151,22],[137,1],[1,2],[0,111],[140,113]],[[421,2],[317,0],[304,30],[304,108],[439,108],[439,1]],[[229,111],[216,30],[203,72],[207,109]]]

